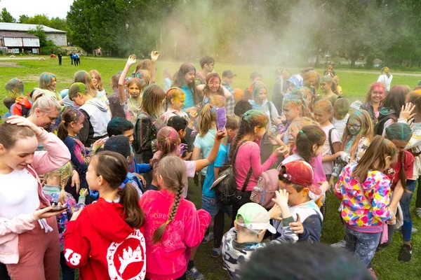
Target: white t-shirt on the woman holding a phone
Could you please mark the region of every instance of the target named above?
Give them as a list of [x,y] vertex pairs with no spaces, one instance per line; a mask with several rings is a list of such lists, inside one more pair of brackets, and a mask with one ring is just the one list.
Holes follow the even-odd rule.
[[27,169],[0,174],[0,182],[0,217],[11,220],[38,209],[38,181]]

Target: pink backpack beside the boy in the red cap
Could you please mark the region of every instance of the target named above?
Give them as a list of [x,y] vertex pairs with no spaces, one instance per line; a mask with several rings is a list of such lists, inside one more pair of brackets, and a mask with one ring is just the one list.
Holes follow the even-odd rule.
[[275,191],[279,189],[278,175],[279,171],[277,169],[262,172],[258,186],[255,186],[251,192],[250,200],[262,205],[266,209],[272,208],[274,206],[272,198],[275,197]]

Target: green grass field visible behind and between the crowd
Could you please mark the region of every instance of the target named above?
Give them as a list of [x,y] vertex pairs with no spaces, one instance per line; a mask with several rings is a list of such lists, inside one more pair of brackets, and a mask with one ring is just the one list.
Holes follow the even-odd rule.
[[[12,63],[12,64],[11,64]],[[63,65],[58,66],[57,59],[50,59],[46,57],[46,61],[39,60],[0,60],[0,85],[4,85],[11,78],[20,78],[25,83],[25,92],[30,92],[33,87],[38,85],[39,75],[48,71],[54,73],[58,79],[58,90],[69,87],[72,83],[74,72],[77,70],[90,71],[97,69],[102,74],[102,80],[105,83],[107,93],[112,92],[109,85],[110,78],[114,73],[121,71],[126,63],[126,59],[91,59],[82,57],[81,65],[74,66],[70,64],[70,59],[64,57]],[[198,63],[195,64],[199,68]],[[178,70],[180,62],[159,62],[157,70],[156,83],[162,85],[162,70],[164,67],[170,69],[172,73]],[[263,76],[263,83],[267,84],[269,89],[272,88],[274,82],[275,67],[272,66],[240,66],[232,64],[218,64],[215,65],[215,71],[222,73],[222,71],[231,69],[236,73],[233,87],[240,87],[244,89],[249,85],[249,78],[251,72],[259,71]],[[293,73],[298,73],[298,69],[291,69]],[[321,69],[319,69],[321,72]],[[368,90],[368,85],[377,80],[378,73],[363,73],[361,71],[337,71],[340,76],[340,85],[342,86],[345,97],[349,99],[360,99],[363,101],[364,96]],[[392,85],[409,85],[411,88],[417,85],[419,76],[401,76],[395,75]],[[4,98],[4,90],[0,91],[1,99]],[[6,108],[1,104],[0,114],[4,115]],[[196,207],[201,208],[201,190],[194,186],[191,182],[189,186],[189,197],[196,204]],[[416,193],[414,194],[416,196]],[[340,201],[332,194],[328,195],[327,200],[328,214],[323,222],[322,242],[333,244],[340,241],[344,237],[344,230],[342,223],[340,223],[338,207]],[[413,199],[415,202],[415,199]],[[413,213],[413,212],[412,212]],[[379,279],[392,280],[392,279],[421,279],[421,221],[413,215],[414,227],[420,230],[417,234],[413,235],[413,259],[409,263],[402,263],[397,260],[399,248],[402,242],[402,235],[399,232],[394,233],[394,240],[392,246],[377,252],[373,260],[373,268]],[[228,230],[230,221],[226,217],[226,228]],[[206,245],[201,245],[199,252],[196,256],[196,267],[205,274],[206,279],[228,279],[227,273],[222,270],[222,259],[214,259],[210,257],[213,242]],[[282,264],[280,263],[281,267]]]

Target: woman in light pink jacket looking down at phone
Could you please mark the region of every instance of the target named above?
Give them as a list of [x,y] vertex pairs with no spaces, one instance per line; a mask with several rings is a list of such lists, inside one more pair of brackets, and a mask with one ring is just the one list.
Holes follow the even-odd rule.
[[[41,141],[46,151],[36,151]],[[53,208],[38,174],[70,160],[65,144],[27,118],[0,125],[0,262],[11,279],[59,279],[60,243]]]

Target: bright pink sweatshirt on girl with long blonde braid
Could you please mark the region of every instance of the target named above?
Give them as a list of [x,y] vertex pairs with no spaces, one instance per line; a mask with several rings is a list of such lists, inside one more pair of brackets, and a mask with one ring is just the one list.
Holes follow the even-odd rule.
[[196,210],[194,204],[180,200],[175,218],[166,227],[161,241],[154,244],[154,231],[168,220],[174,202],[174,193],[168,190],[148,190],[140,199],[145,212],[146,278],[177,279],[185,273],[190,248],[199,246],[210,223],[208,212]]

